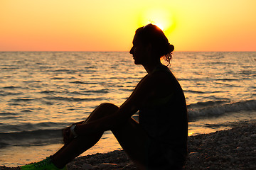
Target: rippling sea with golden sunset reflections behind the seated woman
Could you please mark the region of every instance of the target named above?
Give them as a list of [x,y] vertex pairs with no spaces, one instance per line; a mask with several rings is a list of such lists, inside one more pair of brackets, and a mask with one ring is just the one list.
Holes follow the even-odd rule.
[[[0,52],[0,61],[0,166],[54,154],[61,129],[100,103],[120,106],[146,74],[129,52]],[[174,52],[170,69],[186,96],[188,135],[255,120],[256,52]],[[107,131],[82,155],[114,149]]]

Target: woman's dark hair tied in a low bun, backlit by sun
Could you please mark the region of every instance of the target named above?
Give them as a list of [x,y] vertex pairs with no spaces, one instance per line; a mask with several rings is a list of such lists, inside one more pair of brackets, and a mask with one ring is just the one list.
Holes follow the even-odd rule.
[[169,44],[166,35],[164,35],[160,28],[150,23],[144,27],[138,28],[135,36],[142,45],[151,46],[152,56],[157,59],[164,57],[164,59],[170,64],[172,57],[171,52],[174,51],[174,45]]

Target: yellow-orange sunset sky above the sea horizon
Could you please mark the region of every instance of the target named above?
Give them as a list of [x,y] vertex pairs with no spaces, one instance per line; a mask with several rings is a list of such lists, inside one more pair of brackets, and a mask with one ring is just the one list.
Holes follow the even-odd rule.
[[0,51],[129,51],[147,23],[176,51],[256,51],[255,0],[0,0]]

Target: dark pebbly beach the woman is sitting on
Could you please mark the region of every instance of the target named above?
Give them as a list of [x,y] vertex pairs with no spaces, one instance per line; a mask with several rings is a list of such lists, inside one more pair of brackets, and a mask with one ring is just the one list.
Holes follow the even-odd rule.
[[[234,123],[230,130],[188,137],[188,159],[184,170],[256,169],[256,121]],[[156,155],[157,157],[157,155]],[[19,169],[0,166],[0,170]],[[135,170],[124,151],[78,157],[69,170]]]

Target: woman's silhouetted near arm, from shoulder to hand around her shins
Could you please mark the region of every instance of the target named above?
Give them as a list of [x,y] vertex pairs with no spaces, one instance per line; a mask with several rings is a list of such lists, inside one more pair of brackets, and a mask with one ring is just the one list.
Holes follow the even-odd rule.
[[110,130],[118,125],[122,125],[134,113],[142,108],[148,98],[166,94],[171,82],[166,79],[164,74],[146,75],[136,86],[131,96],[125,101],[119,109],[109,116],[77,125],[78,135],[92,134]]

